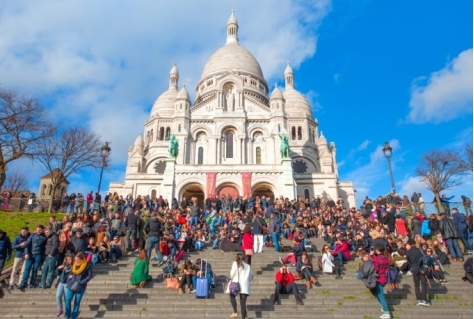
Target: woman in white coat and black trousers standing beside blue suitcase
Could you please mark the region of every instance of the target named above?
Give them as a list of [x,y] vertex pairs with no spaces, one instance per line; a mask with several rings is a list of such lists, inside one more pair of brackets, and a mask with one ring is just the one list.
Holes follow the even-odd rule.
[[[250,268],[249,264],[244,262],[244,255],[242,253],[238,253],[235,256],[235,261],[232,263],[232,267],[230,269],[230,281],[229,285],[227,285],[227,289],[225,291],[226,294],[230,296],[230,303],[232,305],[232,309],[234,312],[230,315],[231,318],[237,318],[237,301],[235,297],[237,294],[240,297],[240,312],[242,314],[242,319],[247,317],[247,297],[250,295],[250,280],[252,280],[252,269]],[[229,286],[231,282],[238,282],[240,285],[240,291],[235,293],[230,291]]]

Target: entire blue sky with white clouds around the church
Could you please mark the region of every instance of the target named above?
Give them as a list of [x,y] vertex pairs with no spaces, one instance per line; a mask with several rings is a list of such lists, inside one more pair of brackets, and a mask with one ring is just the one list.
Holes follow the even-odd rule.
[[[104,189],[123,181],[127,149],[174,61],[194,97],[231,9],[269,86],[283,86],[290,61],[358,202],[390,190],[385,141],[397,192],[431,200],[415,174],[420,155],[472,143],[472,1],[0,0],[0,84],[112,142]],[[45,172],[15,166],[36,191]],[[72,176],[70,191],[95,190],[98,175]],[[472,177],[446,193],[472,195]]]

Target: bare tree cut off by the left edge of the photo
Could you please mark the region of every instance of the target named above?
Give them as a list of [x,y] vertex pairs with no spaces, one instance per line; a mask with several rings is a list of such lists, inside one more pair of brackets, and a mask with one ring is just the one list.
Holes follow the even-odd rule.
[[0,87],[0,188],[7,166],[23,157],[32,158],[36,146],[56,134],[47,113],[34,99]]

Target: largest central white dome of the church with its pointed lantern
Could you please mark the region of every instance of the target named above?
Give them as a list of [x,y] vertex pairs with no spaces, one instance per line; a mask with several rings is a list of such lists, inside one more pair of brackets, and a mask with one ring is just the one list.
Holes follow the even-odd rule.
[[227,21],[227,41],[207,61],[201,74],[201,80],[214,74],[232,70],[234,72],[246,73],[259,78],[265,82],[262,69],[257,59],[247,49],[239,45],[238,23],[234,14]]

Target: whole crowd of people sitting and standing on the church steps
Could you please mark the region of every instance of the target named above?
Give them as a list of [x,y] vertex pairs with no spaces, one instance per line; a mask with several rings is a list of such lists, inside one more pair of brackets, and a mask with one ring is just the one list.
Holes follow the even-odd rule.
[[[0,231],[0,270],[15,253],[10,290],[35,288],[42,267],[38,287],[49,289],[58,277],[58,316],[64,313],[65,298],[65,318],[76,318],[87,282],[92,278],[93,265],[115,262],[128,251],[137,253],[130,275],[134,287],[143,288],[151,280],[148,264],[153,258],[163,269],[168,269],[170,263],[169,272],[180,277],[179,293],[192,293],[197,288],[196,278],[203,273],[209,282],[214,281],[212,268],[207,263],[209,269],[204,271],[197,262],[186,259],[180,263],[180,260],[184,253],[209,245],[209,248],[239,252],[226,291],[234,310],[232,317],[237,317],[235,297],[238,295],[241,315],[245,318],[252,256],[263,253],[265,245],[277,252],[286,251],[288,254],[280,259],[282,266],[275,275],[274,303],[279,303],[279,294],[292,293],[296,304],[302,305],[295,280],[305,280],[308,289],[319,285],[308,250],[314,251],[311,238],[321,238],[326,244],[321,248],[318,267],[335,275],[335,279],[345,276],[344,264],[351,260],[361,269],[366,262],[372,262],[372,272],[378,276],[377,285],[371,291],[382,305],[382,318],[390,318],[383,297],[386,285],[398,289],[400,275],[412,275],[417,305],[429,306],[427,278],[421,275],[419,261],[431,256],[435,261],[433,276],[444,284],[447,281],[443,266],[463,262],[464,256],[472,252],[472,215],[463,215],[452,208],[449,214],[442,211],[439,216],[427,216],[421,196],[417,202],[412,198],[417,204],[407,211],[399,205],[397,196],[366,199],[363,209],[358,210],[347,207],[340,197],[289,200],[283,196],[232,198],[227,194],[209,195],[200,203],[195,197],[168,202],[161,196],[123,199],[116,193],[108,194],[102,201],[98,195],[93,197],[90,192],[84,198],[80,193],[66,194],[68,200],[65,196],[61,207],[69,214],[61,221],[52,215],[48,225],[38,225],[31,234],[24,227],[12,243]],[[281,237],[291,240],[293,245],[282,246]],[[472,258],[470,264],[465,279],[472,283]],[[469,268],[469,262],[466,265]],[[293,273],[290,268],[294,269]],[[366,265],[364,269],[371,268]],[[360,271],[359,276],[367,281],[365,277],[369,275]],[[71,310],[72,300],[75,305]]]

